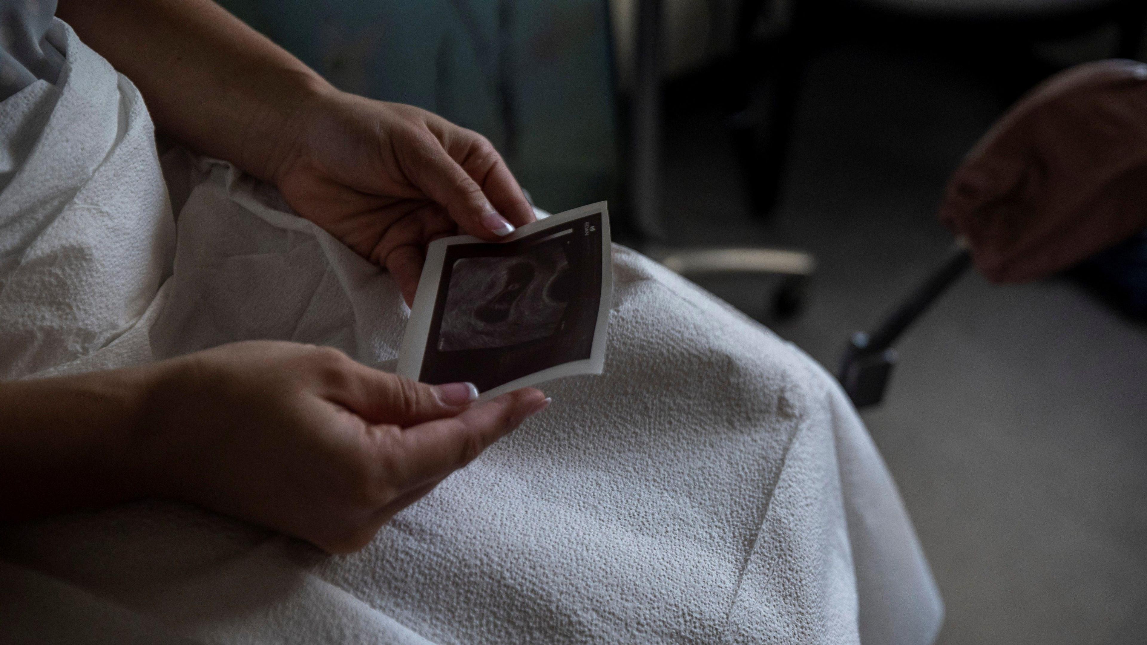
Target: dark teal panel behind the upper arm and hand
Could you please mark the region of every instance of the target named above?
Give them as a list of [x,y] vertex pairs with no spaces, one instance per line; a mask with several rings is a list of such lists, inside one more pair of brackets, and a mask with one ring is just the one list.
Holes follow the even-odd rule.
[[336,86],[485,134],[539,207],[612,199],[602,0],[223,0]]

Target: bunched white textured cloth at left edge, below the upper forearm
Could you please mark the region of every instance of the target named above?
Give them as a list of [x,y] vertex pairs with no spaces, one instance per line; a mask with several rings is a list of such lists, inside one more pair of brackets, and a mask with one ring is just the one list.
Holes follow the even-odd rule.
[[146,318],[174,250],[139,92],[58,20],[48,39],[67,54],[56,85],[0,111],[18,165],[0,193],[0,379],[149,359]]

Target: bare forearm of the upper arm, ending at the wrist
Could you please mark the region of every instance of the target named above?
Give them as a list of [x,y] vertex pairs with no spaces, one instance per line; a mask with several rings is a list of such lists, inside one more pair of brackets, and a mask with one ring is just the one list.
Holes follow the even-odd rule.
[[57,15],[189,148],[271,180],[294,115],[330,86],[210,0],[60,0]]

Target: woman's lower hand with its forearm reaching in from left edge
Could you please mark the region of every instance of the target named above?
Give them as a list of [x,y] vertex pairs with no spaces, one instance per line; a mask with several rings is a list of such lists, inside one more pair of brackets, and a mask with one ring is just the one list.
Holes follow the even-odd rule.
[[0,522],[167,497],[353,551],[549,402],[476,396],[272,341],[0,382]]

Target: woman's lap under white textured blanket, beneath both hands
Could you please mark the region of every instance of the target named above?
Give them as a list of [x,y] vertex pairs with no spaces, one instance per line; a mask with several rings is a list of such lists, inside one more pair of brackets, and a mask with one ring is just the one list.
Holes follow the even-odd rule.
[[[157,357],[264,337],[392,367],[406,309],[388,275],[225,166],[195,172]],[[639,254],[614,261],[606,372],[548,383],[545,414],[361,553],[143,504],[9,527],[0,557],[225,642],[855,642],[830,379]]]

